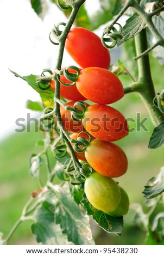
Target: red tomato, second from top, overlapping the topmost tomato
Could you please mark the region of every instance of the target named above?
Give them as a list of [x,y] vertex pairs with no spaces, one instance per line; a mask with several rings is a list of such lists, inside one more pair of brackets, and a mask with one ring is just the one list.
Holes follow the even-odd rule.
[[86,99],[101,105],[116,102],[124,96],[119,78],[102,68],[91,67],[81,70],[76,86]]

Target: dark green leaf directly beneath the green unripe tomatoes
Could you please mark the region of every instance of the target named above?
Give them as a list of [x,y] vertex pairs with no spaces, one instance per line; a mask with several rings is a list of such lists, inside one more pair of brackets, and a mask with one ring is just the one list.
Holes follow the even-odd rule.
[[99,211],[89,203],[84,194],[81,200],[83,208],[87,211],[88,215],[92,215],[93,219],[97,222],[100,228],[103,228],[108,233],[115,233],[120,236],[123,230],[123,217],[111,217],[103,211]]

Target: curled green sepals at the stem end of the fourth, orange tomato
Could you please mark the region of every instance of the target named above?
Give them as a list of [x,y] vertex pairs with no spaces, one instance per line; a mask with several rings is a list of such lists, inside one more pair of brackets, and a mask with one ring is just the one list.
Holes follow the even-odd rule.
[[[88,135],[88,139],[85,137],[80,137],[80,135],[86,133]],[[78,153],[82,153],[86,150],[87,146],[90,144],[91,142],[91,135],[87,132],[87,131],[82,131],[78,134],[77,139],[71,139],[72,143],[75,143],[73,145],[73,149],[78,152]],[[82,147],[82,148],[81,148]]]

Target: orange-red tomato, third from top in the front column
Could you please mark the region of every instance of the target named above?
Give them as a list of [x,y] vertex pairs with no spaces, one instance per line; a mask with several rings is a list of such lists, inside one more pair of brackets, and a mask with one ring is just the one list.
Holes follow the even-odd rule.
[[128,123],[115,108],[106,105],[87,107],[83,126],[93,137],[102,141],[118,141],[128,135]]

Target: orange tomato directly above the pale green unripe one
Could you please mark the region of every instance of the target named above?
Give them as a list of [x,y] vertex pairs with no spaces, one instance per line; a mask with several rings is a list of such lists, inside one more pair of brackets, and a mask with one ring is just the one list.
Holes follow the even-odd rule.
[[94,139],[86,148],[85,157],[96,172],[106,177],[117,178],[127,172],[127,156],[118,145],[112,142]]

